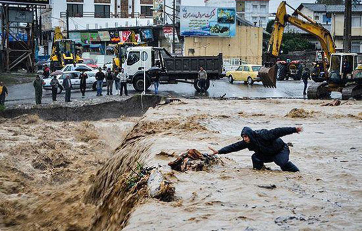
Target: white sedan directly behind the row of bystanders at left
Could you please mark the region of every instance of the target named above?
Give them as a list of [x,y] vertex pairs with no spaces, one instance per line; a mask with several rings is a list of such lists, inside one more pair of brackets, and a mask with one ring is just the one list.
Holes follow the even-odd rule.
[[[80,88],[80,72],[79,71],[66,71],[64,74],[57,75],[57,79],[59,80],[59,87],[58,87],[58,94],[63,91],[63,80],[66,78],[67,75],[70,75],[70,81],[72,83],[73,89]],[[86,79],[86,88],[92,88],[93,90],[97,89],[97,80],[96,80],[96,73],[95,72],[86,72],[88,78]],[[52,87],[50,85],[52,77],[43,79],[43,89],[44,90],[51,90]],[[107,86],[106,80],[103,81],[103,86]]]

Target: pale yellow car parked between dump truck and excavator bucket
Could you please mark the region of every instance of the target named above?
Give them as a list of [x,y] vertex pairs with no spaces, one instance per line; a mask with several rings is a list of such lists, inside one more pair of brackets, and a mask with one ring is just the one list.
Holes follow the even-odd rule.
[[254,82],[260,82],[261,79],[257,77],[260,65],[240,65],[234,71],[227,71],[226,76],[229,78],[229,82],[244,81],[247,84],[253,84]]

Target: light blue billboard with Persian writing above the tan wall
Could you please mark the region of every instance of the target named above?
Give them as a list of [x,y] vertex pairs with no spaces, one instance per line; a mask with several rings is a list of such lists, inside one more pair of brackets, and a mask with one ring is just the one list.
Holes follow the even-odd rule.
[[181,7],[180,25],[182,36],[222,36],[236,34],[235,8]]

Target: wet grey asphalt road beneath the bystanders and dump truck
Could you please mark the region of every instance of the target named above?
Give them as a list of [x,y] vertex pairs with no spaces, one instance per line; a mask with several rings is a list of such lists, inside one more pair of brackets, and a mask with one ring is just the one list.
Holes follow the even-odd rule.
[[[310,81],[312,83],[312,81]],[[167,84],[159,86],[159,94],[168,97],[220,97],[224,94],[225,97],[250,97],[250,98],[304,98],[303,96],[303,82],[302,81],[279,81],[277,88],[264,88],[261,83],[254,83],[253,85],[245,85],[243,82],[235,81],[233,84],[229,83],[226,78],[214,80],[210,83],[208,92],[198,93],[192,84],[178,83]],[[127,86],[129,95],[136,94],[131,84]],[[115,93],[115,87],[114,87]],[[153,93],[153,86],[149,88],[147,93]],[[103,95],[107,94],[107,88],[103,88]],[[89,98],[96,98],[96,92],[87,89],[85,98],[81,98],[79,89],[72,90],[71,99],[86,100]],[[340,98],[341,94],[332,92],[332,98]],[[58,101],[64,100],[64,91],[57,96]],[[51,103],[51,91],[43,90],[42,103]],[[9,86],[9,96],[6,99],[6,104],[16,105],[24,103],[35,103],[35,93],[33,83],[19,84]]]

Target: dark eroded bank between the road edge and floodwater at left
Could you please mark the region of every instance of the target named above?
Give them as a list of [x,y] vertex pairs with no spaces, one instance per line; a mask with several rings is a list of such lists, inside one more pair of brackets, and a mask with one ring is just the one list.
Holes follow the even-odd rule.
[[[23,114],[37,114],[42,120],[51,121],[98,121],[121,116],[140,117],[149,107],[156,106],[162,97],[134,95],[124,101],[110,101],[84,106],[40,106],[30,109],[12,108],[0,111],[0,117],[15,118]],[[143,107],[142,107],[143,104]]]

